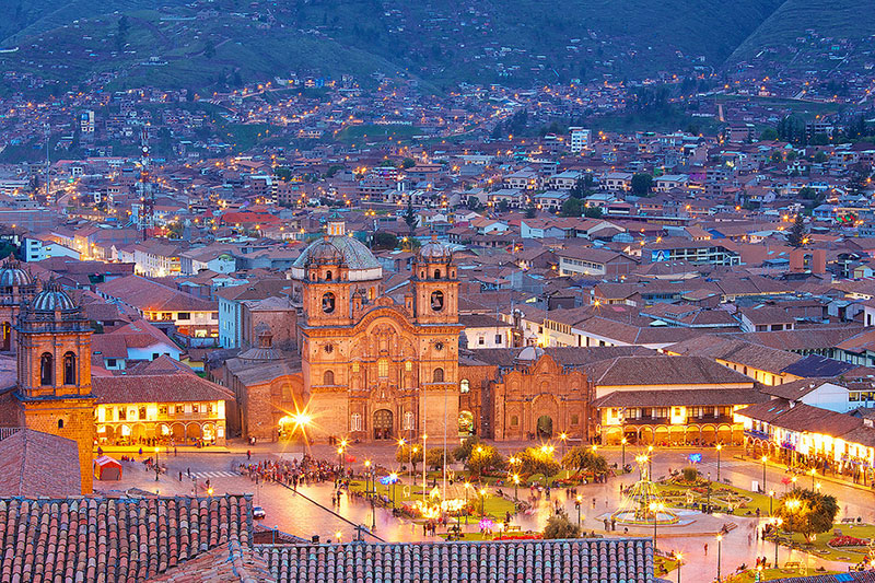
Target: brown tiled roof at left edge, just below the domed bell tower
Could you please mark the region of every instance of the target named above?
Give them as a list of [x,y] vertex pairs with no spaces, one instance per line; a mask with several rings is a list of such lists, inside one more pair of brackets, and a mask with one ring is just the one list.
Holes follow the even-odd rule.
[[0,441],[0,495],[79,495],[79,446],[72,440],[20,429]]

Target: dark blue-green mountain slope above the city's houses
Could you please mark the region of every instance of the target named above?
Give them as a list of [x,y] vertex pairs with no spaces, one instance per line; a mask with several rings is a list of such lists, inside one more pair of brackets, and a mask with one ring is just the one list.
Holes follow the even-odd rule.
[[402,73],[448,88],[707,72],[807,28],[863,34],[875,18],[850,0],[7,1],[0,46],[20,50],[0,54],[0,67],[70,82],[121,69],[122,88],[292,73]]

